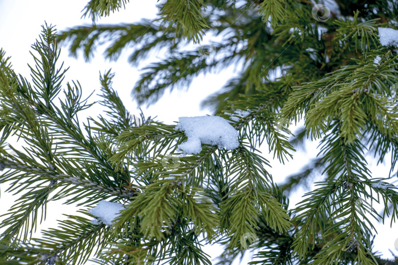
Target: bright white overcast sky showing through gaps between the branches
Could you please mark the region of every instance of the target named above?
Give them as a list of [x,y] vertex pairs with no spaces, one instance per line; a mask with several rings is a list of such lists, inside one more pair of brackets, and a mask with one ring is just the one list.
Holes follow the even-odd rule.
[[[46,21],[48,24],[57,26],[57,29],[64,30],[68,27],[77,25],[90,24],[91,20],[81,19],[81,10],[85,7],[86,0],[68,0],[68,1],[54,1],[54,0],[0,0],[0,48],[3,48],[7,56],[11,56],[13,69],[29,79],[29,68],[27,63],[33,65],[33,60],[29,54],[30,45],[38,38],[41,31],[41,25]],[[116,24],[116,23],[134,23],[141,20],[141,18],[154,18],[158,12],[156,8],[156,0],[140,0],[131,1],[126,6],[126,10],[121,10],[108,18],[101,19],[98,24]],[[206,38],[205,41],[208,41]],[[206,43],[204,43],[206,44]],[[117,62],[110,62],[104,60],[102,52],[103,47],[99,47],[97,53],[91,62],[85,62],[82,56],[77,59],[68,56],[67,47],[61,47],[62,53],[59,61],[64,61],[64,66],[70,66],[66,73],[65,81],[79,80],[83,87],[83,98],[87,97],[93,90],[94,94],[99,93],[99,72],[104,73],[105,70],[112,68],[115,72],[113,79],[113,87],[123,100],[125,106],[131,114],[139,114],[137,104],[130,96],[131,89],[139,79],[139,69],[145,66],[145,63],[150,61],[158,61],[158,58],[163,54],[152,54],[145,63],[142,63],[139,68],[134,68],[127,63],[129,52],[122,53]],[[155,105],[145,108],[142,107],[143,113],[146,117],[157,116],[157,120],[166,124],[173,124],[178,121],[180,116],[200,116],[211,114],[208,110],[200,110],[200,102],[209,94],[219,90],[227,82],[228,79],[235,76],[234,66],[229,67],[225,71],[218,74],[208,74],[206,76],[199,75],[192,82],[189,91],[173,90],[171,93],[166,92],[165,95]],[[92,101],[98,100],[96,96],[92,97]],[[84,112],[85,115],[96,117],[102,111],[102,106],[94,105]],[[79,116],[81,121],[85,120],[82,115]],[[294,132],[294,127],[289,128]],[[15,144],[14,142],[11,142]],[[284,177],[297,172],[302,166],[307,164],[309,159],[314,158],[319,150],[316,150],[317,143],[307,144],[307,153],[303,150],[298,150],[294,153],[294,159],[280,164],[278,160],[273,160],[271,155],[268,155],[268,147],[263,144],[261,151],[264,156],[270,160],[272,168],[269,172],[273,175],[276,183],[283,183]],[[389,158],[387,157],[387,161]],[[370,157],[370,170],[373,177],[387,177],[388,166],[378,165],[373,162]],[[0,184],[1,198],[0,198],[0,214],[5,213],[14,203],[16,196],[12,196],[4,192],[7,185]],[[300,201],[300,197],[310,189],[299,188],[295,194],[290,196],[290,208]],[[378,209],[377,207],[375,207]],[[40,226],[40,228],[56,227],[59,219],[64,219],[62,213],[75,214],[78,210],[72,205],[60,205],[58,202],[50,202],[47,205],[47,219]],[[2,218],[0,217],[0,220]],[[397,225],[393,224],[390,228],[390,220],[386,219],[386,225],[375,225],[378,235],[375,238],[375,250],[383,253],[384,258],[392,258],[389,249],[395,255],[398,251],[394,248],[394,242],[398,238]],[[38,235],[36,235],[38,236]],[[222,249],[219,246],[204,246],[203,250],[216,258],[221,254]],[[252,253],[247,253],[242,262],[235,261],[234,264],[247,264],[251,259]],[[90,264],[89,262],[86,264]]]

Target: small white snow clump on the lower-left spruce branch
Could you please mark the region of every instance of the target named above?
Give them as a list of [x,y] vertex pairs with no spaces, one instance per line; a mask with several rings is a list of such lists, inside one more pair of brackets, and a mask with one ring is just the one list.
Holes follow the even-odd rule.
[[98,219],[93,219],[90,222],[92,224],[100,224],[102,222],[107,225],[112,225],[112,221],[123,209],[124,207],[120,203],[100,201],[96,207],[88,210],[89,213],[98,217]]

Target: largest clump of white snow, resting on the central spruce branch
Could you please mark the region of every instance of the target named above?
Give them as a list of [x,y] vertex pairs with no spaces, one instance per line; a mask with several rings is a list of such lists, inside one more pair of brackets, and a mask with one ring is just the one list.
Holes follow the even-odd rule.
[[184,131],[188,136],[186,142],[178,145],[186,154],[199,154],[202,143],[227,150],[239,147],[239,132],[220,116],[179,117],[175,130]]

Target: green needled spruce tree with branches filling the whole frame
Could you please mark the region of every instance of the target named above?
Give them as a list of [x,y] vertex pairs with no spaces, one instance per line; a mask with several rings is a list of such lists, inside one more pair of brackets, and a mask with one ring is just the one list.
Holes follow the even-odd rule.
[[[388,182],[398,175],[398,3],[333,3],[330,10],[304,0],[167,0],[155,21],[96,25],[127,1],[90,0],[84,14],[92,26],[58,35],[43,27],[31,81],[0,50],[0,182],[20,195],[0,225],[0,264],[84,264],[91,254],[107,265],[210,264],[201,245],[214,242],[225,245],[219,264],[250,247],[259,249],[251,264],[398,264],[372,250],[373,224],[398,217],[397,188]],[[224,38],[199,52],[183,49],[204,34]],[[135,85],[140,104],[242,62],[240,76],[203,103],[220,117],[212,121],[239,132],[238,145],[228,148],[224,135],[193,140],[182,119],[176,128],[132,116],[111,71],[100,77],[106,115],[82,125],[78,114],[92,103],[79,82],[62,86],[57,45],[67,41],[89,59],[104,38],[110,59],[133,45],[133,64],[169,50]],[[288,126],[303,118],[305,128],[289,140]],[[11,135],[25,140],[24,152],[7,144]],[[284,162],[304,138],[320,139],[318,158],[276,185],[256,148],[268,145]],[[197,141],[199,151],[190,152]],[[179,156],[182,149],[191,154]],[[390,175],[372,178],[366,153],[378,162],[391,154]],[[318,169],[324,180],[289,206],[289,192]],[[91,209],[31,238],[59,197]]]

